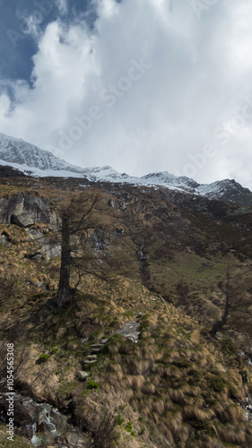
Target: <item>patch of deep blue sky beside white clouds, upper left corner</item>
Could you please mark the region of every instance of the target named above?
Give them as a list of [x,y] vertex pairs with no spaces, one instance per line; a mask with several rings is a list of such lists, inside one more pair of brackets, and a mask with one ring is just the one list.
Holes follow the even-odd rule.
[[[40,7],[38,7],[40,4]],[[91,0],[69,0],[67,10],[60,13],[56,0],[0,0],[0,73],[2,79],[25,79],[30,81],[33,68],[32,56],[38,50],[38,41],[22,31],[27,30],[25,18],[39,11],[39,28],[43,32],[48,23],[58,18],[64,22],[71,22],[75,15],[87,11],[95,12],[91,7]],[[93,22],[94,15],[89,15],[89,21]],[[41,22],[40,22],[41,21]],[[23,28],[24,27],[24,28]]]

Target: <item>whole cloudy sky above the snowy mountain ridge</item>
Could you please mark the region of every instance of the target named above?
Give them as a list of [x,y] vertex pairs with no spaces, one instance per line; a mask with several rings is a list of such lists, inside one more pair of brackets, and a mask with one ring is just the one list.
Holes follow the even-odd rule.
[[248,0],[0,0],[0,133],[252,190]]

